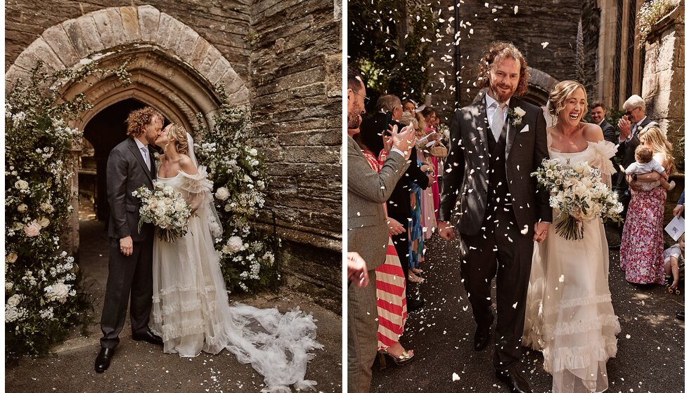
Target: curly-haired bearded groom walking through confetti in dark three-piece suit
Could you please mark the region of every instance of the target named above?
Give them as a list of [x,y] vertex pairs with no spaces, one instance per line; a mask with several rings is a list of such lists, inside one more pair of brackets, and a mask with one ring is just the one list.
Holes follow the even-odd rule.
[[439,232],[461,234],[461,274],[477,324],[474,349],[490,338],[491,281],[497,277],[493,364],[510,392],[531,392],[517,372],[534,241],[543,241],[552,220],[548,194],[529,174],[548,158],[541,108],[514,95],[527,91],[522,53],[494,42],[479,60],[477,100],[456,111],[443,176]]

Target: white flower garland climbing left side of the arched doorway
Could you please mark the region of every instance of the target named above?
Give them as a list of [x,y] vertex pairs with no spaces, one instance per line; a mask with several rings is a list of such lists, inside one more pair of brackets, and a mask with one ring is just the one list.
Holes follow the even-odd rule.
[[78,267],[61,251],[60,237],[73,211],[71,149],[82,140],[81,131],[68,122],[91,104],[84,95],[65,100],[58,91],[91,74],[115,72],[122,81],[126,66],[106,70],[84,61],[78,69],[49,74],[39,63],[6,97],[5,345],[10,360],[48,353],[89,306]]

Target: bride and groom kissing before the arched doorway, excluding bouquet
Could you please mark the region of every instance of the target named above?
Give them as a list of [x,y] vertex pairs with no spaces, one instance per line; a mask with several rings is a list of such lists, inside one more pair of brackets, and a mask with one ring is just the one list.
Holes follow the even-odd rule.
[[[96,373],[110,367],[129,302],[134,340],[162,345],[163,352],[180,357],[228,349],[264,375],[265,392],[290,392],[289,385],[312,389],[316,382],[304,380],[306,363],[313,356],[309,351],[322,347],[313,317],[299,309],[281,314],[228,305],[214,250],[213,184],[196,162],[191,135],[179,124],[162,128],[164,122],[153,107],[131,112],[127,139],[108,156],[110,255]],[[162,151],[160,164],[148,145]],[[153,189],[155,182],[172,187],[193,212],[188,232],[172,242],[155,237],[150,223],[137,229],[141,201],[132,193],[141,186]]]

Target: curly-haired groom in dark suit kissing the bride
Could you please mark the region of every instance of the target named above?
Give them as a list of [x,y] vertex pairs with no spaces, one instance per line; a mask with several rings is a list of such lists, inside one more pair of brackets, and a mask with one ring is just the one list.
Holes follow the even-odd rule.
[[153,225],[139,223],[139,199],[131,192],[142,185],[153,189],[155,165],[153,145],[162,131],[163,116],[152,107],[131,112],[127,117],[127,139],[115,146],[108,156],[107,187],[110,205],[110,258],[108,284],[101,316],[101,352],[96,357],[96,373],[110,366],[120,331],[127,317],[131,338],[162,345],[162,340],[148,329],[153,297]]

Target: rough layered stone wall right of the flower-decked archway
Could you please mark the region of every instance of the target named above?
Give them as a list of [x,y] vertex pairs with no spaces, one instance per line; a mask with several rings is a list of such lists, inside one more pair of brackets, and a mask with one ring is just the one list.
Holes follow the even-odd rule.
[[[251,6],[250,78],[288,284],[334,297],[342,266],[342,8],[318,0]],[[304,283],[313,285],[304,286]],[[325,292],[323,292],[325,291]]]

